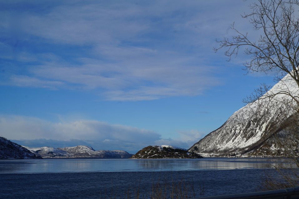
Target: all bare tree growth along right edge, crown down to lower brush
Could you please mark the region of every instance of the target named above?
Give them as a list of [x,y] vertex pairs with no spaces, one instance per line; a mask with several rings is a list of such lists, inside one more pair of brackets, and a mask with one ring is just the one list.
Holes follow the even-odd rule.
[[[235,24],[231,29],[236,35],[216,40],[215,52],[224,49],[228,61],[239,51],[250,57],[244,63],[247,73],[262,72],[275,74],[280,82],[276,87],[262,84],[245,103],[257,104],[256,112],[278,106],[284,112],[276,119],[276,132],[271,135],[273,155],[288,157],[281,164],[273,165],[279,175],[278,181],[267,179],[267,188],[275,189],[299,184],[299,1],[298,0],[257,0],[250,5],[251,13],[242,15],[248,19],[253,30],[261,33],[252,41],[248,33],[239,31]],[[292,169],[293,168],[293,169]],[[285,173],[287,172],[287,173]],[[291,173],[290,173],[291,172]]]

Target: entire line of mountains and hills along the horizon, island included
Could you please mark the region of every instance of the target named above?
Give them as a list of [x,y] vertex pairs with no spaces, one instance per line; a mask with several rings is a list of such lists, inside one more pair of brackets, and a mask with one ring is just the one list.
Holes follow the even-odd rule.
[[[277,94],[288,90],[292,96],[299,96],[296,82],[285,76],[268,93]],[[239,109],[218,129],[195,143],[189,150],[162,145],[147,146],[135,155],[122,150],[94,150],[89,146],[64,148],[23,147],[0,137],[0,159],[25,158],[198,158],[201,156],[230,156],[231,154],[283,156],[277,145],[279,139],[289,136],[285,130],[293,124],[294,109],[285,103],[285,95],[267,95]],[[261,100],[263,99],[263,100]],[[287,99],[289,100],[289,99]],[[262,114],[261,114],[262,113]]]

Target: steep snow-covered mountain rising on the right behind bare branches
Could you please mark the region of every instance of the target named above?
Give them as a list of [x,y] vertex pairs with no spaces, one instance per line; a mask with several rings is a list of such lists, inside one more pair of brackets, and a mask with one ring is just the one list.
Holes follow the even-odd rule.
[[268,155],[267,151],[262,152],[263,146],[273,142],[273,134],[282,129],[294,109],[284,103],[290,99],[286,95],[278,94],[271,100],[266,96],[285,90],[299,96],[296,82],[285,76],[261,98],[233,113],[221,127],[195,143],[189,151],[204,156],[227,156],[231,153],[255,154],[259,149],[259,155]]

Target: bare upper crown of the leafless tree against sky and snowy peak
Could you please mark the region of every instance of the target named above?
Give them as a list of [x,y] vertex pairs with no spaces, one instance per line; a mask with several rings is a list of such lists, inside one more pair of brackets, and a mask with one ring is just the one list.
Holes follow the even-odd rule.
[[219,46],[214,48],[215,52],[225,49],[228,61],[237,56],[240,49],[251,57],[250,61],[244,63],[244,69],[248,73],[275,72],[275,80],[283,80],[283,86],[278,92],[269,91],[270,86],[263,84],[244,102],[251,103],[262,96],[271,100],[282,94],[288,96],[291,102],[299,104],[299,96],[294,95],[293,89],[294,86],[299,88],[299,18],[297,10],[295,11],[295,7],[299,8],[298,5],[297,1],[258,0],[250,5],[250,14],[242,15],[249,19],[254,30],[261,32],[256,41],[251,41],[248,33],[237,30],[234,23],[231,29],[236,32],[235,36],[216,40]]

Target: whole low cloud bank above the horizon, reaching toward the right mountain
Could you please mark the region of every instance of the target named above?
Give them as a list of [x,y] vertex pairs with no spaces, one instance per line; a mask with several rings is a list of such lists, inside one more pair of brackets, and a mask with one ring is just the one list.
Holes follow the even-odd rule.
[[41,147],[89,145],[96,150],[126,150],[136,153],[149,145],[169,144],[189,148],[201,138],[197,131],[179,132],[177,139],[162,139],[159,133],[96,120],[49,122],[34,117],[0,115],[0,136],[18,144]]

